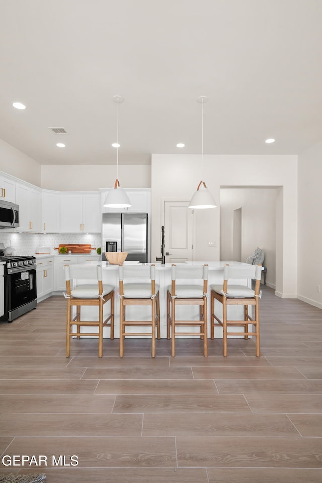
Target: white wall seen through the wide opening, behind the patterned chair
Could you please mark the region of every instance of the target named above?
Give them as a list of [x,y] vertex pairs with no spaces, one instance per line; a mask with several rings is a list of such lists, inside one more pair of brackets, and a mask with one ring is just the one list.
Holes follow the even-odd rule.
[[265,251],[266,282],[275,288],[276,251],[275,188],[223,188],[220,190],[220,260],[233,258],[234,210],[241,208],[241,261],[245,262],[257,247]]

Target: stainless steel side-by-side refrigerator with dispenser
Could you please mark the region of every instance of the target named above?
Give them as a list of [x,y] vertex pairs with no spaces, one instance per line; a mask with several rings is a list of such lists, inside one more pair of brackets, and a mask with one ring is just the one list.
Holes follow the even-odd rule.
[[126,260],[148,261],[146,213],[103,213],[102,260],[104,252],[128,252]]

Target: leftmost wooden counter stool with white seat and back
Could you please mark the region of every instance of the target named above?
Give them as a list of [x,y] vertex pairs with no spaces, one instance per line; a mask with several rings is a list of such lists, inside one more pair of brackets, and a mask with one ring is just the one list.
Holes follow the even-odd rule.
[[[114,286],[103,285],[102,282],[102,266],[101,265],[65,265],[65,279],[67,293],[67,333],[66,333],[66,357],[70,357],[71,337],[81,336],[98,337],[99,339],[99,357],[103,356],[103,327],[110,327],[110,338],[114,338]],[[71,288],[73,280],[82,281],[75,288]],[[85,281],[85,283],[83,282]],[[90,283],[86,283],[90,281]],[[97,283],[93,283],[96,281]],[[103,320],[103,306],[109,301],[111,302],[110,315]],[[99,316],[97,321],[86,321],[81,319],[82,306],[96,306],[99,308]],[[72,317],[72,307],[77,307],[75,317]],[[73,326],[76,326],[76,332],[73,332]],[[98,327],[97,332],[82,332],[81,327]]]

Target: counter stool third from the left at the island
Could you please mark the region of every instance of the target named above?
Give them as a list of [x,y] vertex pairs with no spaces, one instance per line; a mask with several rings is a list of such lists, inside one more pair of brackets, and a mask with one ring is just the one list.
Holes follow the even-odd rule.
[[[184,283],[177,283],[177,280]],[[199,283],[196,283],[196,281]],[[207,339],[208,265],[171,266],[171,286],[167,290],[167,339],[171,333],[171,356],[176,355],[176,336],[199,336],[203,339],[203,355],[208,356]],[[182,305],[200,307],[198,320],[177,320],[176,308]],[[178,332],[179,327],[199,327],[199,332]]]

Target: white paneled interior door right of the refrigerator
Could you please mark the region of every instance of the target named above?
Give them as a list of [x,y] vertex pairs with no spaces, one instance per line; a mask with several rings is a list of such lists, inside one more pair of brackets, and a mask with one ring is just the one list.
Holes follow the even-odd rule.
[[165,201],[166,263],[184,263],[193,260],[193,210],[189,201]]

